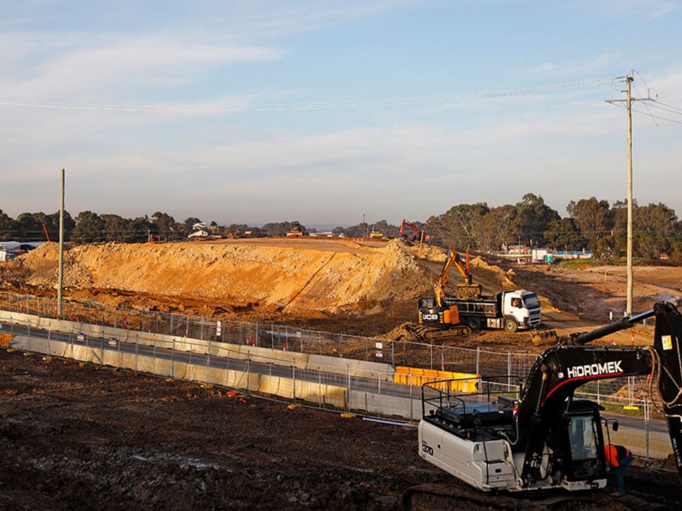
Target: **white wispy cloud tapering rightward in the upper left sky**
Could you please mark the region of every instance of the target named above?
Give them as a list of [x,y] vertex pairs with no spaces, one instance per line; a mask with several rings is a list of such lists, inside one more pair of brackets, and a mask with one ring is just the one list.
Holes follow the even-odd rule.
[[14,47],[2,58],[0,98],[107,98],[200,80],[220,67],[281,58],[273,47],[196,43],[192,34],[65,34],[50,46],[45,33],[0,34]]

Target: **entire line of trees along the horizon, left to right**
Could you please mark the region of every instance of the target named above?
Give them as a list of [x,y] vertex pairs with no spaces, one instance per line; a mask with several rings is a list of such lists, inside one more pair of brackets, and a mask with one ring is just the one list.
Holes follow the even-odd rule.
[[[488,207],[487,203],[458,204],[445,213],[428,218],[425,224],[413,222],[426,230],[431,239],[457,249],[495,251],[503,246],[525,245],[554,249],[589,249],[598,257],[623,257],[627,242],[627,203],[595,197],[570,201],[568,216],[544,203],[540,195],[525,194],[515,204]],[[151,217],[124,218],[115,214],[83,211],[73,218],[64,214],[65,240],[76,243],[145,242],[152,235],[161,240],[183,240],[192,232],[192,225],[200,223],[196,217],[177,222],[165,212]],[[633,203],[633,249],[635,257],[658,258],[666,253],[682,259],[682,221],[674,210],[663,203],[640,206]],[[217,223],[211,222],[212,227]],[[304,232],[314,232],[306,229]],[[376,227],[384,236],[397,238],[399,227],[386,220],[359,223],[351,227],[336,227],[332,233],[362,238]],[[232,224],[219,234],[250,233],[251,237],[286,236],[292,222],[267,223],[263,227]],[[59,213],[22,213],[11,218],[0,209],[0,240],[41,241],[45,231],[50,240],[59,236]],[[408,231],[411,236],[411,231]]]

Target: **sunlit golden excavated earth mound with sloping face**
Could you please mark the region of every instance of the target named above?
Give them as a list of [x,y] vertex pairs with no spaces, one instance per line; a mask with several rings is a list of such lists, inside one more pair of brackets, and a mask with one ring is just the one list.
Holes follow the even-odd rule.
[[[26,284],[54,287],[58,246],[45,243],[23,258]],[[239,244],[80,245],[65,253],[64,285],[212,302],[325,313],[371,308],[419,297],[432,286],[426,266],[404,244],[347,243],[338,251]]]

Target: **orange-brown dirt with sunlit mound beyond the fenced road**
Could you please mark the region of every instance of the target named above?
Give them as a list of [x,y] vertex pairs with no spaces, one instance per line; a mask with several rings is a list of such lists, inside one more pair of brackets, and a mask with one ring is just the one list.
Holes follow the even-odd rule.
[[[384,336],[417,317],[417,299],[432,293],[445,254],[399,240],[267,238],[144,245],[83,245],[67,251],[65,295],[98,302],[217,319],[274,321],[298,327]],[[0,264],[0,287],[56,295],[56,244]],[[474,282],[485,293],[527,288],[538,293],[543,320],[561,335],[589,330],[625,308],[622,266],[567,269],[518,265],[489,255],[472,257]],[[452,270],[450,286],[461,282]],[[682,268],[638,266],[635,310],[646,296],[675,294]],[[632,334],[634,333],[634,338]],[[637,326],[605,343],[647,344],[650,326]],[[527,332],[483,330],[441,342],[464,347],[534,351]],[[417,339],[412,339],[417,340]]]

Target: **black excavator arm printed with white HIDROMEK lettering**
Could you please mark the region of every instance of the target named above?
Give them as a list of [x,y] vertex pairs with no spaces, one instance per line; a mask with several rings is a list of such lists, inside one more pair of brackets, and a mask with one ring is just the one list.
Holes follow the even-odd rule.
[[[600,337],[656,317],[653,347],[586,346]],[[545,351],[533,365],[520,396],[512,439],[513,450],[525,452],[521,479],[526,486],[540,479],[540,463],[547,438],[568,415],[575,390],[591,381],[651,375],[668,421],[677,467],[682,476],[682,315],[674,304],[659,303],[652,310],[623,318],[569,339]],[[568,344],[568,343],[567,343]],[[651,390],[651,389],[650,389]]]

